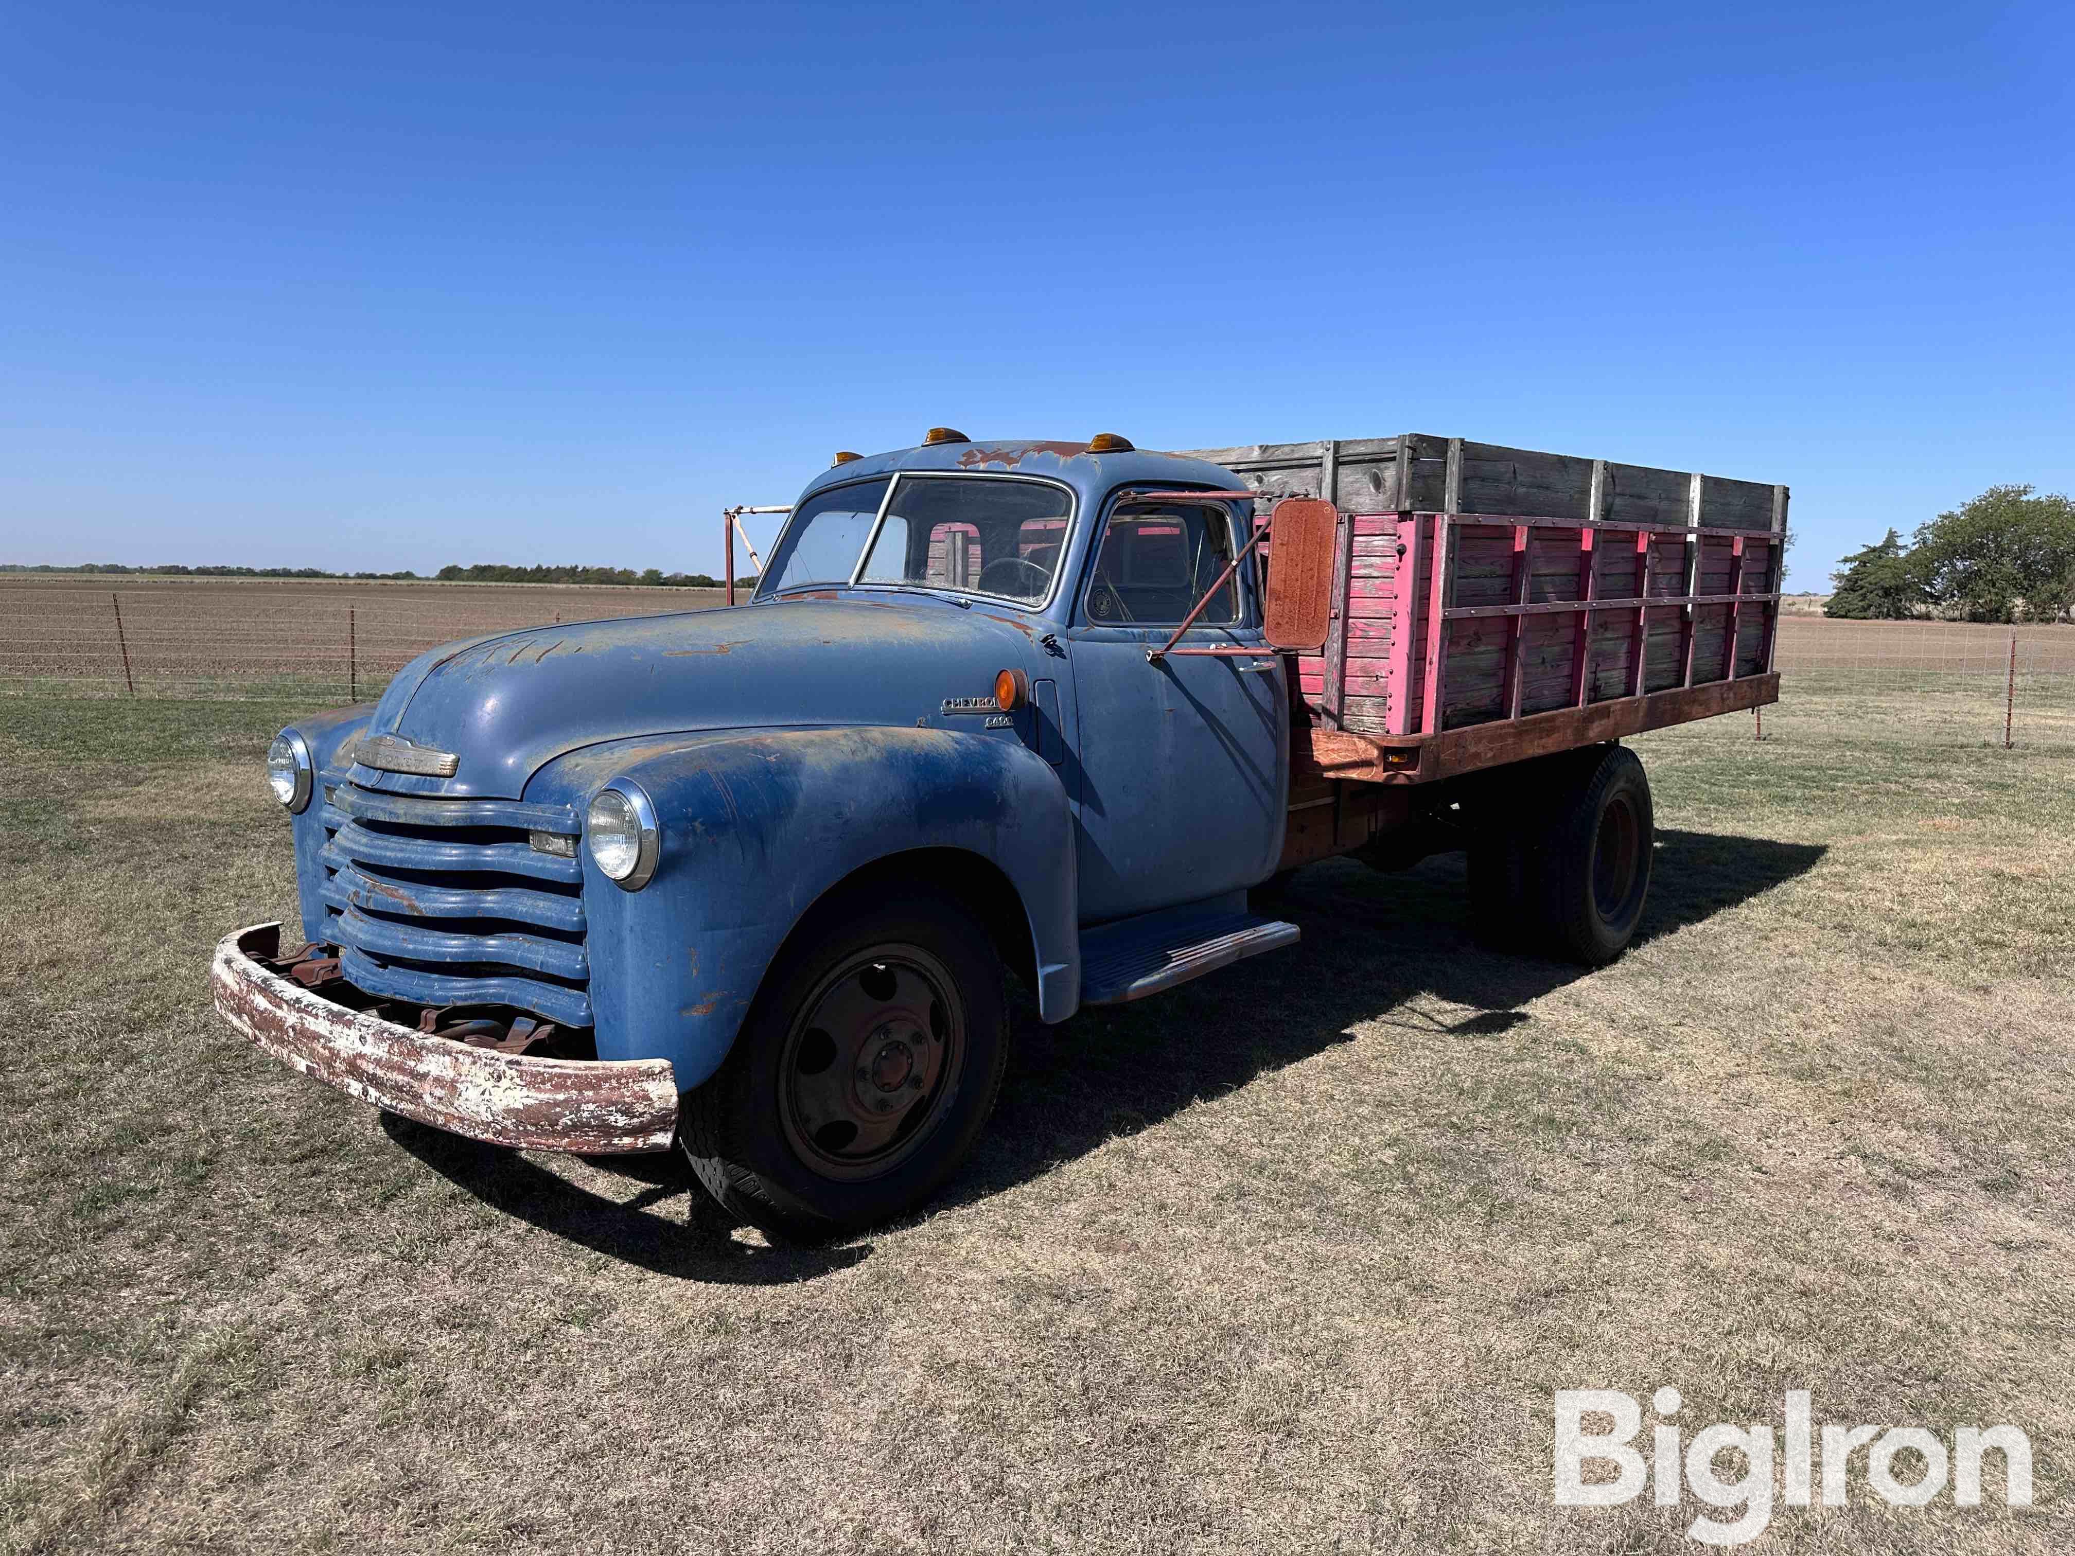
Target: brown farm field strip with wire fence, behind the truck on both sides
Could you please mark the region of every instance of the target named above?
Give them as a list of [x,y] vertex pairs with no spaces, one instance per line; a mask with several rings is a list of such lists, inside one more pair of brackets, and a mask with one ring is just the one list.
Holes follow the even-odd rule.
[[[440,643],[699,610],[703,589],[396,585],[0,585],[0,695],[369,701]],[[1780,618],[1785,720],[1884,726],[1934,745],[2075,747],[2075,627]]]

